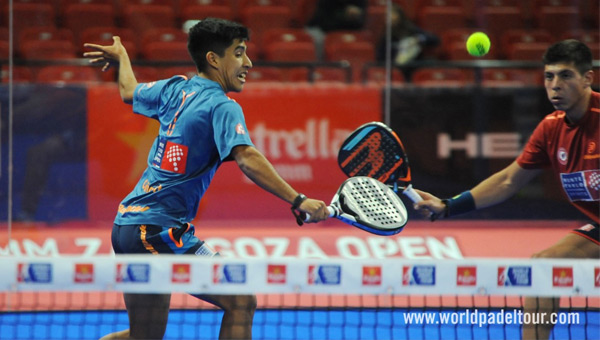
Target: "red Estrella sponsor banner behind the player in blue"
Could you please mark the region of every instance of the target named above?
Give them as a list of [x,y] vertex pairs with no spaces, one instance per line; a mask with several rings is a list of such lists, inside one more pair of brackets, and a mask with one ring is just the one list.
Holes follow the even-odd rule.
[[[249,84],[230,95],[242,105],[252,141],[280,175],[296,190],[326,201],[345,179],[337,165],[343,140],[359,125],[381,119],[377,87]],[[146,167],[158,124],[133,114],[116,86],[91,87],[88,97],[88,210],[91,220],[105,220],[115,216]],[[185,168],[167,165],[175,172]],[[210,219],[290,214],[285,202],[246,179],[233,162],[217,172],[199,212]]]

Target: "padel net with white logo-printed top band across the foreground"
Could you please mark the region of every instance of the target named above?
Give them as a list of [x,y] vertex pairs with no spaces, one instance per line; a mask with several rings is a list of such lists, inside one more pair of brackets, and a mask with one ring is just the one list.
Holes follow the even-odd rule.
[[[165,339],[218,338],[222,312],[187,293],[256,294],[253,339],[518,339],[528,321],[600,338],[593,260],[8,257],[0,270],[1,339],[126,329],[122,292],[173,292]],[[560,308],[526,314],[526,296]]]

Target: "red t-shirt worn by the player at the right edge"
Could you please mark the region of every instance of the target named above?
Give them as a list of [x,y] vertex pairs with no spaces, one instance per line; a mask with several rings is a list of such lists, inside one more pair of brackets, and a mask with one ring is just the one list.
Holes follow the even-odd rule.
[[542,120],[517,163],[523,169],[552,167],[571,204],[600,222],[600,93],[592,92],[587,113],[567,124],[564,111]]

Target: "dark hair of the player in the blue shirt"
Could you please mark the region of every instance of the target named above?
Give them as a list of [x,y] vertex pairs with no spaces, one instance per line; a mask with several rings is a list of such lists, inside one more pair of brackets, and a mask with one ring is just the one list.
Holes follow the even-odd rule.
[[217,18],[202,19],[192,26],[188,34],[188,52],[198,71],[204,71],[207,66],[206,53],[212,51],[222,57],[235,39],[250,40],[248,28]]

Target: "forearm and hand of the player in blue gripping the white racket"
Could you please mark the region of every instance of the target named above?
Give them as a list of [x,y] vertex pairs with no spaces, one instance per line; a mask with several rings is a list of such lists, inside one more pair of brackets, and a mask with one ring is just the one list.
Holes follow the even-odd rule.
[[[279,176],[271,162],[255,147],[239,145],[233,148],[231,155],[242,172],[259,187],[290,204],[294,203],[298,192]],[[320,200],[307,198],[298,209],[310,214],[311,218],[307,221],[309,223],[323,221],[329,217],[327,205]]]

